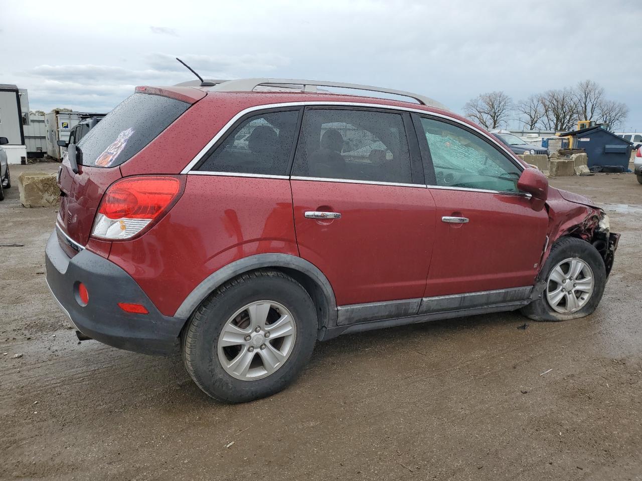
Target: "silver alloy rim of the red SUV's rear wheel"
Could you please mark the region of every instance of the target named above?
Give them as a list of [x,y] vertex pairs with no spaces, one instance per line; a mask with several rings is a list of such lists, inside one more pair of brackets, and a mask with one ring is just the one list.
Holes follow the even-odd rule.
[[223,326],[218,360],[233,378],[254,381],[271,375],[294,348],[297,325],[290,311],[275,301],[241,307]]

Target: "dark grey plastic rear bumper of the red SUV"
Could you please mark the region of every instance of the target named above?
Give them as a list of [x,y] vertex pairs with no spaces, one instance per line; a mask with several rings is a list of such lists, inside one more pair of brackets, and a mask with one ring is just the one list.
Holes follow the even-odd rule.
[[[70,258],[55,232],[47,242],[45,262],[49,289],[80,332],[129,351],[160,355],[177,351],[186,319],[160,314],[135,280],[116,264],[87,249]],[[84,307],[76,300],[78,282],[89,292]],[[149,314],[125,312],[119,302],[144,305]]]

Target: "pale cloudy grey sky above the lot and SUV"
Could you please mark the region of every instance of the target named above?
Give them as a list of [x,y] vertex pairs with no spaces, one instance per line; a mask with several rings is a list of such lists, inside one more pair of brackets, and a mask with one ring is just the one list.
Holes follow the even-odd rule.
[[642,131],[639,0],[0,4],[0,83],[28,89],[32,110],[110,110],[135,85],[191,80],[179,56],[204,77],[367,83],[456,112],[591,79]]

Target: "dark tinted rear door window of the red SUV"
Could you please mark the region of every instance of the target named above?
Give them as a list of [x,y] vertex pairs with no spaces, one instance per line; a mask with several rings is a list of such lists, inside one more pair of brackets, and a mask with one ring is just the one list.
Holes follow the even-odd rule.
[[306,110],[292,175],[412,183],[403,117],[369,110]]

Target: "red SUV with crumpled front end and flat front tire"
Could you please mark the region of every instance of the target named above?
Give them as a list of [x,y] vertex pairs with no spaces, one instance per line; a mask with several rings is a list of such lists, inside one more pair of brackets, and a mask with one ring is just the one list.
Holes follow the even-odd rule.
[[600,302],[620,237],[604,212],[435,101],[208,83],[138,87],[69,146],[47,282],[81,339],[180,349],[237,402],[343,333]]

